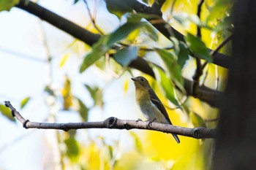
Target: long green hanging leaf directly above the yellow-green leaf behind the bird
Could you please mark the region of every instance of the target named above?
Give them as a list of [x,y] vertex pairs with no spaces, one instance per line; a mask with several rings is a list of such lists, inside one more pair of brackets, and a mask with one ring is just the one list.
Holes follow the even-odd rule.
[[183,87],[184,80],[181,76],[181,66],[178,65],[175,55],[173,55],[173,53],[169,53],[165,49],[156,48],[155,50],[162,58],[162,61],[164,61],[167,74],[169,75],[170,79],[179,84],[179,86]]

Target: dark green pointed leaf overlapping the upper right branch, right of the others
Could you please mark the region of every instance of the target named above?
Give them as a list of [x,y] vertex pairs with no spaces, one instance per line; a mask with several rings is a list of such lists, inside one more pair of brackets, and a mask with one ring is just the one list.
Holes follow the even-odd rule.
[[209,63],[212,63],[212,57],[209,54],[209,50],[207,49],[206,44],[202,42],[201,39],[197,38],[196,36],[190,33],[187,33],[185,39],[187,45],[189,46],[189,49],[192,51],[193,54],[196,55],[196,57],[204,59]]

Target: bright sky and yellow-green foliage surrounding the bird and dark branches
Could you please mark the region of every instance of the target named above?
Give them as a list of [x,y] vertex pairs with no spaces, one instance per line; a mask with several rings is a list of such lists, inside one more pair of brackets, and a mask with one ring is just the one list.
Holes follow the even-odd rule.
[[[1,1],[1,10],[9,10],[16,2]],[[154,1],[144,2],[151,5]],[[219,117],[218,110],[198,99],[187,98],[182,93],[183,77],[192,80],[196,68],[194,59],[188,56],[188,47],[199,58],[211,62],[206,47],[214,49],[230,35],[228,11],[232,2],[205,1],[199,20],[195,15],[197,1],[176,1],[173,9],[173,1],[166,1],[163,18],[187,35],[187,44],[175,38],[170,42],[142,19],[151,16],[127,13],[129,9],[113,1],[88,1],[98,29],[83,1],[39,1],[43,7],[91,32],[104,32],[106,36],[93,47],[15,7],[10,12],[2,11],[1,101],[10,100],[24,117],[39,122],[101,121],[110,116],[136,120],[143,116],[135,104],[135,88],[130,78],[143,75],[165,104],[174,125],[214,128],[217,121],[209,120]],[[202,27],[202,39],[195,36],[197,26]],[[116,43],[124,46],[113,48]],[[229,54],[230,45],[221,52]],[[157,80],[127,68],[137,56],[162,66],[166,74],[153,64]],[[205,85],[218,90],[225,88],[225,69],[208,64],[206,72],[202,78]],[[176,144],[170,134],[154,131],[26,130],[15,122],[3,103],[0,110],[0,169],[211,166],[212,139],[180,136],[181,144]]]

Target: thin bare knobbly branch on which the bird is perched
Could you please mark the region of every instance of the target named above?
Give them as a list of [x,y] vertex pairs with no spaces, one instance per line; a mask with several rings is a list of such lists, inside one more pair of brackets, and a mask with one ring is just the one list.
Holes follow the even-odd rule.
[[120,120],[116,117],[109,117],[102,122],[86,122],[86,123],[37,123],[30,122],[24,119],[20,113],[12,107],[10,101],[4,101],[6,107],[12,111],[12,116],[17,117],[24,128],[41,128],[41,129],[58,129],[69,131],[71,129],[81,128],[110,128],[110,129],[144,129],[151,131],[162,131],[167,134],[178,134],[181,136],[188,136],[195,139],[215,138],[216,129],[208,129],[203,127],[197,128],[183,128],[175,125],[167,125],[162,123],[148,123],[142,120]]

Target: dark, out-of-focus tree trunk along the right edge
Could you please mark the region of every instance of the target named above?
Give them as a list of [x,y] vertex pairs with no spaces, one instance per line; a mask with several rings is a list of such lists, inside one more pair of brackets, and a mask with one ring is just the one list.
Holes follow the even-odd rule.
[[256,1],[238,0],[214,169],[256,169]]

